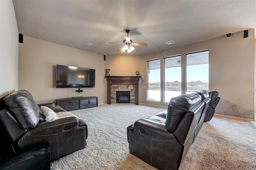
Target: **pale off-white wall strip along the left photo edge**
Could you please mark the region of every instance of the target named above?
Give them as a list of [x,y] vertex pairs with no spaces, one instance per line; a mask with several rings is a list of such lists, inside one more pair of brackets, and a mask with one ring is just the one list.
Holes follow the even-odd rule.
[[18,90],[18,26],[12,0],[0,0],[0,96]]

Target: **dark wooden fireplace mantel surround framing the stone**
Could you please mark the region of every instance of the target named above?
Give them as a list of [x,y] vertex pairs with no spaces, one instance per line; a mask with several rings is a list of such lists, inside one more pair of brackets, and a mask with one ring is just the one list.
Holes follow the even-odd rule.
[[135,85],[135,104],[139,104],[139,81],[141,76],[105,76],[107,79],[107,103],[111,104],[111,85],[112,84],[134,84]]

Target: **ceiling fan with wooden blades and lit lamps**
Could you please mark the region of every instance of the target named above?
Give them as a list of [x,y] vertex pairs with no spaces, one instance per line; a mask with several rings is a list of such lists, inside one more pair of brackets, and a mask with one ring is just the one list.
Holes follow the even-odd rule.
[[125,30],[127,33],[127,37],[125,37],[124,41],[122,43],[109,43],[109,44],[124,44],[122,47],[120,47],[117,52],[125,52],[130,53],[132,51],[138,52],[133,46],[147,46],[147,43],[133,43],[130,37],[128,37],[128,33],[130,32],[130,29]]

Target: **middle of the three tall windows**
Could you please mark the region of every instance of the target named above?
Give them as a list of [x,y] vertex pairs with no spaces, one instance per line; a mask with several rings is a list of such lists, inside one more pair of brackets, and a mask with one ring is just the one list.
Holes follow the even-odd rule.
[[181,95],[181,55],[164,58],[164,102]]

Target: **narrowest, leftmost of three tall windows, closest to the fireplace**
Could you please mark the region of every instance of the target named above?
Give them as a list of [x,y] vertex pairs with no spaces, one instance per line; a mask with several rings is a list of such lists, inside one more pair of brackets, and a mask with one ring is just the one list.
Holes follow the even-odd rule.
[[148,61],[148,89],[147,100],[160,102],[160,59]]

